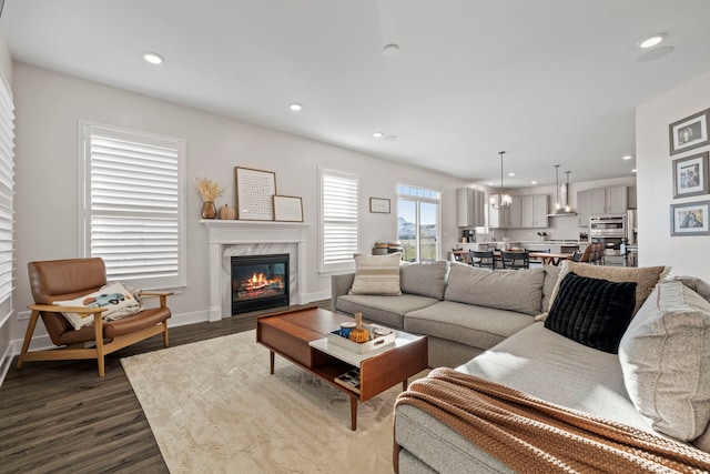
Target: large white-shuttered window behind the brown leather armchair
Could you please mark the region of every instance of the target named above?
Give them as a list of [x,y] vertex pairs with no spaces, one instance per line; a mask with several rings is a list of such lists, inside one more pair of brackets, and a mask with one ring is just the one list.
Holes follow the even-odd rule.
[[87,256],[110,281],[185,285],[184,140],[81,122]]

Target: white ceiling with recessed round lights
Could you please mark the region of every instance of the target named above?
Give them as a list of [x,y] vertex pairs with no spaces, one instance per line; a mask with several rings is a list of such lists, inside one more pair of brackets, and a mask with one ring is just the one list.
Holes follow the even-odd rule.
[[499,185],[505,150],[527,188],[555,164],[632,175],[635,108],[710,70],[708,19],[707,0],[6,0],[0,30],[18,61],[471,183]]

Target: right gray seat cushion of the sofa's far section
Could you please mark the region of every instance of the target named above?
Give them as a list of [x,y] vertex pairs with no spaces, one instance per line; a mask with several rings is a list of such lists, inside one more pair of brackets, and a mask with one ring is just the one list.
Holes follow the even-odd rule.
[[534,322],[529,315],[513,311],[442,301],[408,312],[404,330],[490,349]]

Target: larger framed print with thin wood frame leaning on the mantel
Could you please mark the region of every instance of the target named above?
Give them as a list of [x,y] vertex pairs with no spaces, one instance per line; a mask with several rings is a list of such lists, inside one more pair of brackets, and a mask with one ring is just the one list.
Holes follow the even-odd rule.
[[234,169],[236,178],[236,219],[273,221],[276,173],[272,171]]

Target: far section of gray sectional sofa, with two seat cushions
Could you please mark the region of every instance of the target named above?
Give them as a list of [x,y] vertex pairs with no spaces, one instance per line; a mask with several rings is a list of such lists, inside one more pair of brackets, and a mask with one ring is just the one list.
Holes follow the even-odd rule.
[[456,262],[406,263],[402,294],[348,294],[355,273],[332,278],[333,311],[429,339],[429,366],[468,362],[521,329],[547,307],[559,269],[475,269]]

